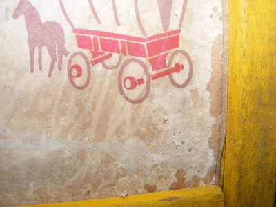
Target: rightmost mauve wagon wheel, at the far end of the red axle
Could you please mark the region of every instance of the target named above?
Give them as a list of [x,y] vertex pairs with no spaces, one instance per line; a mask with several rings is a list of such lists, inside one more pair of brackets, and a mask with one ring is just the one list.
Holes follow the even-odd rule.
[[170,82],[176,88],[184,88],[190,83],[190,79],[193,76],[193,63],[190,59],[190,55],[184,50],[176,50],[170,55],[168,59],[168,66],[174,67],[176,63],[184,66],[184,70],[181,70],[179,73],[174,73],[168,75]]

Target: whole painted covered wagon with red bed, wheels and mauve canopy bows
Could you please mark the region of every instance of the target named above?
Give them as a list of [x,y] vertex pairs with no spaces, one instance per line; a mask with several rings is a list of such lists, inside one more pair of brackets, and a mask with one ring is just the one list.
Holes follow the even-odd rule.
[[[118,1],[109,1],[112,6],[112,14],[116,26],[121,26]],[[190,82],[193,76],[193,63],[184,50],[179,49],[179,36],[181,34],[181,26],[184,21],[187,0],[182,1],[181,14],[179,14],[178,28],[170,30],[170,16],[172,15],[172,0],[150,0],[158,9],[158,16],[161,23],[162,32],[158,34],[148,35],[148,31],[144,25],[147,19],[143,19],[141,15],[140,4],[138,0],[131,1],[133,13],[137,28],[141,35],[117,34],[115,32],[91,30],[90,28],[75,27],[74,19],[70,18],[68,5],[65,1],[59,0],[61,10],[64,17],[72,27],[75,34],[77,46],[81,50],[89,50],[90,57],[83,51],[74,52],[68,60],[68,78],[75,88],[81,90],[88,87],[91,77],[91,67],[101,64],[103,68],[108,70],[119,68],[118,88],[119,92],[126,101],[130,103],[141,103],[147,99],[150,93],[151,82],[168,76],[170,82],[176,88],[184,88]],[[104,21],[99,17],[96,1],[88,0],[87,6],[90,7],[91,15],[98,24]],[[124,2],[122,2],[124,3]],[[140,3],[140,4],[139,4]],[[124,4],[123,4],[124,5]],[[104,8],[101,8],[103,10]],[[154,17],[155,18],[155,17]],[[170,55],[169,55],[170,54]],[[181,57],[181,58],[179,58]],[[115,58],[113,65],[106,63],[108,59]],[[82,59],[80,65],[76,59]],[[135,66],[135,67],[132,67]],[[125,74],[126,68],[130,70],[139,70],[143,75],[135,76],[136,73]],[[178,76],[178,77],[177,77]],[[79,83],[79,78],[86,77],[86,81]],[[139,90],[139,95],[132,96],[131,92]]]

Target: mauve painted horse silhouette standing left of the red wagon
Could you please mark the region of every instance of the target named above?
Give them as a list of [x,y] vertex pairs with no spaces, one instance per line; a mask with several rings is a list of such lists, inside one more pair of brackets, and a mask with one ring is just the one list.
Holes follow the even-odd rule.
[[17,19],[19,16],[25,16],[26,28],[28,31],[28,45],[30,49],[30,72],[34,72],[34,51],[38,47],[39,53],[39,70],[42,70],[41,48],[46,46],[52,59],[48,77],[52,76],[52,71],[57,62],[58,68],[61,70],[63,55],[67,57],[69,52],[64,47],[65,38],[62,26],[54,21],[41,22],[39,12],[32,6],[28,0],[20,0],[17,8],[15,8],[12,18]]

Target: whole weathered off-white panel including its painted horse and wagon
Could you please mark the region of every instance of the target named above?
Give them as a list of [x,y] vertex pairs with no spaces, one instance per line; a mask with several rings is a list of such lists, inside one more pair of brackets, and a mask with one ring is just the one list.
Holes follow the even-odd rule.
[[221,0],[1,0],[0,206],[217,184]]

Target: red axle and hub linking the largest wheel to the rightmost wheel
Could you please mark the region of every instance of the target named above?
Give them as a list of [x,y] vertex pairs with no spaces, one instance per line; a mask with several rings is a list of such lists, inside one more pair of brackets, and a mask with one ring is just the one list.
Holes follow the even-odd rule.
[[[174,72],[179,73],[183,69],[184,69],[183,64],[176,63],[174,67],[172,67],[168,70],[164,70],[163,72],[158,72],[158,73],[153,74],[151,76],[151,79],[153,81],[155,79],[159,79],[166,75],[170,75]],[[137,86],[143,85],[143,84],[145,84],[145,81],[143,78],[135,79],[135,77],[132,77],[132,76],[128,76],[128,77],[124,78],[124,87],[126,88],[126,90],[133,90],[133,89],[137,88]]]

